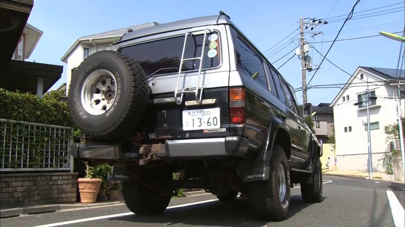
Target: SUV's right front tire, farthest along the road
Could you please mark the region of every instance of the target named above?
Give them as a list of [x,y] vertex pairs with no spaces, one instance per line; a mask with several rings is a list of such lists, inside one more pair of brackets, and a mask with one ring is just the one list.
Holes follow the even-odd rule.
[[319,157],[316,157],[310,177],[311,183],[301,184],[301,196],[304,202],[319,203],[322,201],[322,168]]

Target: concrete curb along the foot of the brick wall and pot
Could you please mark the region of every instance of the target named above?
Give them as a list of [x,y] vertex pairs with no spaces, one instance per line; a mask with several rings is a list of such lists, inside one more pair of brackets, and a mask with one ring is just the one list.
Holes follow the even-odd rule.
[[124,204],[124,201],[99,202],[90,204],[84,203],[84,204],[53,204],[53,205],[27,206],[11,209],[2,209],[0,210],[0,218],[18,217],[21,215],[39,214],[39,213],[52,213],[57,211],[89,209],[104,206],[116,206],[121,204]]

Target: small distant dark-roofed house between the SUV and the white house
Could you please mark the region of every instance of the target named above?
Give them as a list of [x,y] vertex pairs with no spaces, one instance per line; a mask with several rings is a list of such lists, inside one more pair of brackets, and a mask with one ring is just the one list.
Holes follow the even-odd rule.
[[312,107],[312,111],[316,112],[312,116],[315,136],[323,143],[326,143],[328,138],[333,135],[333,108],[330,105],[331,103],[319,103]]

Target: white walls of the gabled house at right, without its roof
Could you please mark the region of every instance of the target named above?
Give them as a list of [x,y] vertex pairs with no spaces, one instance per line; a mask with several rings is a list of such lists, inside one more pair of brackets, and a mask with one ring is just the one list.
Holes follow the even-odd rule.
[[[369,79],[369,82],[381,84],[381,78],[375,77],[365,71],[359,70],[353,83],[363,82],[357,77],[362,73],[364,80]],[[365,84],[363,84],[365,85]],[[373,85],[373,84],[371,84]],[[403,89],[403,87],[401,88]],[[396,119],[396,104],[397,100],[389,99],[392,97],[396,89],[387,86],[370,86],[370,90],[374,90],[377,96],[377,105],[370,108],[370,122],[378,122],[379,129],[371,130],[371,147],[372,147],[372,163],[373,169],[384,172],[382,160],[385,152],[389,151],[389,144],[386,143],[384,134],[384,126],[393,124]],[[358,109],[353,105],[357,102],[357,95],[366,91],[365,86],[349,87],[337,97],[337,103],[333,106],[334,121],[335,121],[335,136],[336,136],[336,155],[338,166],[340,169],[358,169],[366,170],[368,163],[368,135],[365,130],[364,123],[367,123],[367,110]],[[349,95],[349,101],[342,101],[343,95]],[[402,102],[402,112],[404,112],[404,103]],[[351,127],[351,132],[344,132],[344,127]]]

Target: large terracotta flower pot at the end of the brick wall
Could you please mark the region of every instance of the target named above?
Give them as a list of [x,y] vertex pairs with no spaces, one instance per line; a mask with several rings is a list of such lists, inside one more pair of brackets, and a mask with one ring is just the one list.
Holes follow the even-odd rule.
[[77,184],[80,193],[80,202],[94,203],[97,199],[98,191],[100,190],[103,180],[98,178],[79,178]]

